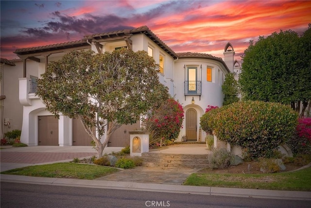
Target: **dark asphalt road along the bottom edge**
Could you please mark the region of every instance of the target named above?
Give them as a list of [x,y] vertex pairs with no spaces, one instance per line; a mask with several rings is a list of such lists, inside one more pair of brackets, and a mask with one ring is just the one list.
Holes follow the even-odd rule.
[[1,208],[310,208],[310,201],[1,182]]

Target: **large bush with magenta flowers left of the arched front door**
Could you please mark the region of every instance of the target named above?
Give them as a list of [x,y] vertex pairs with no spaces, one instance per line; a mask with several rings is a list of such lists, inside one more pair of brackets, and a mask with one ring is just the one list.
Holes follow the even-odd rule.
[[171,140],[178,137],[183,120],[183,107],[178,101],[170,98],[144,120],[144,126],[150,131],[155,131],[157,138]]

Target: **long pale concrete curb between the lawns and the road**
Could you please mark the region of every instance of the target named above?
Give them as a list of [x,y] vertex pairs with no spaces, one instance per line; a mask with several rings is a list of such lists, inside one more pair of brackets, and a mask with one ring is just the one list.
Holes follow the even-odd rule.
[[170,193],[190,193],[190,194],[213,195],[213,196],[233,196],[233,197],[311,201],[310,191],[197,187],[197,186],[182,186],[182,185],[168,185],[168,184],[137,183],[137,182],[44,178],[44,177],[6,175],[6,174],[0,175],[0,181],[10,183],[71,186],[71,187],[85,187],[97,189],[127,189],[127,190],[156,191],[156,192],[170,192]]

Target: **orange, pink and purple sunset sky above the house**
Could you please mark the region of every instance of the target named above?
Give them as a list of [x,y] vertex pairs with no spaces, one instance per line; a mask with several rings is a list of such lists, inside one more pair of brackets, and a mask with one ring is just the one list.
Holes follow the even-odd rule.
[[299,35],[311,23],[311,1],[290,0],[1,0],[2,58],[17,48],[79,40],[88,34],[147,25],[174,52],[236,59],[249,40],[280,30]]

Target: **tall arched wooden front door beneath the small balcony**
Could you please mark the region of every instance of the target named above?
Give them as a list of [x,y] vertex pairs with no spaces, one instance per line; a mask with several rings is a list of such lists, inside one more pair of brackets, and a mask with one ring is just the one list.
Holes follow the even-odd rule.
[[186,136],[188,141],[197,141],[197,113],[193,108],[186,111]]

